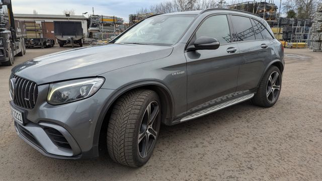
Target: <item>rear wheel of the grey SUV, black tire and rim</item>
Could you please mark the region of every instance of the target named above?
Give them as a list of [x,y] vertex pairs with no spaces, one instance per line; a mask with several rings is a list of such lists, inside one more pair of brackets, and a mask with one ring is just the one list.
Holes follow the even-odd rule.
[[[274,77],[276,74],[276,80]],[[252,102],[261,107],[272,107],[279,98],[282,87],[282,74],[278,67],[271,66],[263,76]]]

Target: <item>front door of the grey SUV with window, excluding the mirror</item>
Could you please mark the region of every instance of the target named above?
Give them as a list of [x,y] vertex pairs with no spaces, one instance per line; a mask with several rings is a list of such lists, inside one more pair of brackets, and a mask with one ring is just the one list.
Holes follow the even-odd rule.
[[228,99],[227,95],[235,92],[240,61],[229,28],[227,15],[210,16],[200,24],[190,41],[201,36],[213,37],[220,46],[216,50],[185,52],[188,113]]

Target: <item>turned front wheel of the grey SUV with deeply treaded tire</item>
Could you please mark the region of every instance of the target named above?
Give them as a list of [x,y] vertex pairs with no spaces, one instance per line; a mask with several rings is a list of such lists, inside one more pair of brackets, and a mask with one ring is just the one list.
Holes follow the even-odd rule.
[[[135,89],[117,100],[107,129],[107,148],[115,162],[139,167],[148,161],[158,137],[160,108],[158,95],[147,89]],[[151,124],[147,110],[151,117],[155,115]]]

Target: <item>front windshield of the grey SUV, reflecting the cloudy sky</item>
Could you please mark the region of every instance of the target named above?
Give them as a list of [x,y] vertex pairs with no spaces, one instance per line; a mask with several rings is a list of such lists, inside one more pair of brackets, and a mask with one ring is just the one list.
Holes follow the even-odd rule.
[[187,30],[195,16],[162,15],[147,18],[126,32],[115,43],[170,46]]

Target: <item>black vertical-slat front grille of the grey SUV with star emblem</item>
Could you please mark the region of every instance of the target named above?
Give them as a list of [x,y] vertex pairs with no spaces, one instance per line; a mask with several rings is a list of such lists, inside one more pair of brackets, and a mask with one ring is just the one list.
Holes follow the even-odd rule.
[[16,79],[14,96],[15,105],[22,108],[33,109],[38,97],[37,83],[17,75],[13,75],[12,78]]

